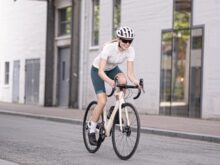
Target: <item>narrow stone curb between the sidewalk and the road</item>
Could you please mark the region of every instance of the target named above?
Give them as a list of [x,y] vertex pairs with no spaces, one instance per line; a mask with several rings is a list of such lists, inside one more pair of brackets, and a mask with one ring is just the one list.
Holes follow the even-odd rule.
[[[6,111],[6,110],[0,110],[0,114],[30,117],[30,118],[35,118],[35,119],[82,125],[81,120],[49,116],[49,115],[30,114],[30,113],[23,113],[23,112],[11,112],[11,111]],[[141,133],[220,143],[219,136],[204,135],[204,134],[197,134],[197,133],[188,133],[188,132],[172,131],[172,130],[157,129],[157,128],[147,128],[147,127],[142,127]]]

